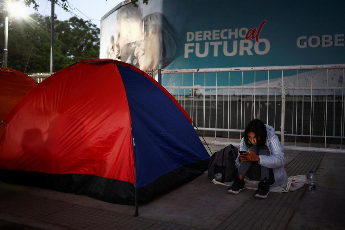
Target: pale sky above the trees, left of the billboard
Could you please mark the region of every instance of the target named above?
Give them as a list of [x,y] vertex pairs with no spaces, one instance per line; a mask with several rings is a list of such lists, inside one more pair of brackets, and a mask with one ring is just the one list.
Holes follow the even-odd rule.
[[[55,14],[57,15],[57,20],[68,20],[70,17],[77,14],[80,18],[84,20],[89,20],[100,28],[101,17],[108,13],[112,8],[116,7],[119,3],[124,0],[68,0],[69,6],[68,10],[70,12],[64,11],[61,7],[55,4]],[[61,0],[59,0],[61,2]],[[36,0],[39,5],[38,13],[42,15],[51,14],[51,2],[48,0]],[[29,14],[34,13],[33,5],[31,4],[30,9],[26,10]]]

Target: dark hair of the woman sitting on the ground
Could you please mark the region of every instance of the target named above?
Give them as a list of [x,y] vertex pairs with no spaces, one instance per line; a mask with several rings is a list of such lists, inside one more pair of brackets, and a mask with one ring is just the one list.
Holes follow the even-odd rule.
[[249,148],[253,144],[250,143],[248,139],[248,132],[255,133],[258,147],[264,146],[267,137],[267,131],[264,122],[260,121],[259,119],[254,119],[248,123],[246,129],[244,130],[244,143]]

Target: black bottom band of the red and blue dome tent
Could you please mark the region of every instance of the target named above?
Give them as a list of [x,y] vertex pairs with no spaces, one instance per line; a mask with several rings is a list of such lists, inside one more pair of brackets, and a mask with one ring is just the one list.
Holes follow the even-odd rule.
[[[153,200],[165,192],[192,181],[207,170],[209,159],[172,170],[146,186],[137,188],[137,204]],[[83,194],[102,201],[135,205],[132,183],[86,174],[49,174],[43,172],[0,170],[0,180],[60,192]]]

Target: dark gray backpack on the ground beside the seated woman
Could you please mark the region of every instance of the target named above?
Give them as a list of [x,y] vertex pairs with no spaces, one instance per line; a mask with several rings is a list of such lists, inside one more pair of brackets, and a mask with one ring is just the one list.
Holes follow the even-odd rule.
[[232,144],[215,152],[208,163],[208,178],[220,182],[234,180],[238,173],[235,166],[237,155],[238,149]]

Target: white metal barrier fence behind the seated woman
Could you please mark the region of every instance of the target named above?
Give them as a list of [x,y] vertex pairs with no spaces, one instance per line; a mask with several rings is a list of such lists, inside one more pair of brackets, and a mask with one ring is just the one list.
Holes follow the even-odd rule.
[[[204,136],[215,137],[209,144],[238,146],[246,124],[258,118],[276,129],[283,145],[285,139],[295,142],[285,149],[345,153],[344,69],[345,64],[339,64],[161,70],[161,74],[162,85]],[[312,148],[315,142],[324,143],[324,148]],[[327,143],[340,148],[326,148]]]

